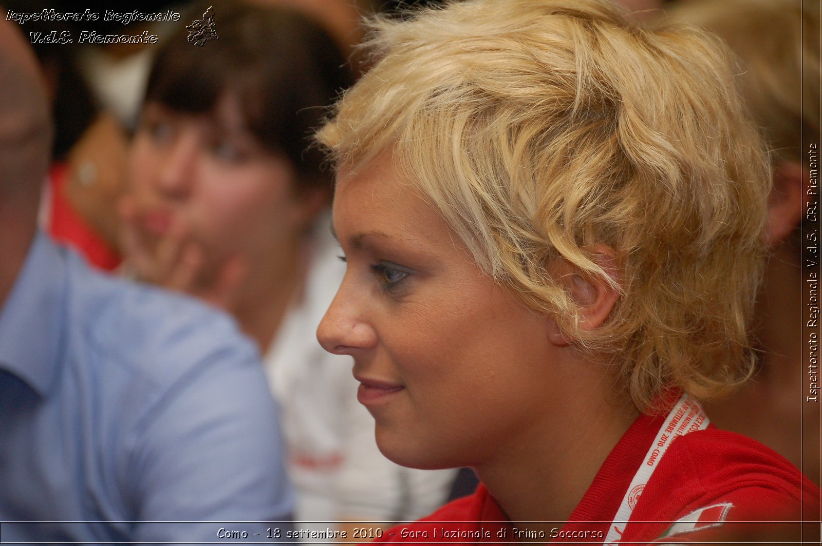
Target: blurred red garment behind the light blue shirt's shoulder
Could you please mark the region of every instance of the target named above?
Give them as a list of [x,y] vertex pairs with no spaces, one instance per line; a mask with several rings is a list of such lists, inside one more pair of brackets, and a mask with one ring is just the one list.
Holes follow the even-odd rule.
[[117,268],[122,259],[63,195],[67,175],[65,163],[55,163],[48,173],[50,202],[46,211],[45,230],[55,241],[71,246],[90,264],[111,271]]

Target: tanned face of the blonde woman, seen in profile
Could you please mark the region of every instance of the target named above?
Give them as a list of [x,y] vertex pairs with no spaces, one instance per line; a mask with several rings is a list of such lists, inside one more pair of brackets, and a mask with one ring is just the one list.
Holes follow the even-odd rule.
[[353,356],[386,457],[477,465],[543,429],[558,388],[549,319],[478,268],[390,154],[340,173],[334,226],[347,269],[317,337]]

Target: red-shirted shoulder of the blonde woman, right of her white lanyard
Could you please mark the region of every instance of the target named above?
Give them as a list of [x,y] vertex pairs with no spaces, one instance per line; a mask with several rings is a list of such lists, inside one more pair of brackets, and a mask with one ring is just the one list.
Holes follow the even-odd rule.
[[623,541],[792,536],[820,511],[819,488],[790,462],[713,426],[676,438],[636,497]]

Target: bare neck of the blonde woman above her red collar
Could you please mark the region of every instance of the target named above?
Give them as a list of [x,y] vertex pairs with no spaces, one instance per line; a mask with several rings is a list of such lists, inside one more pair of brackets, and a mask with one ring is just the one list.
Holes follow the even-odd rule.
[[[550,415],[537,431],[526,431],[516,449],[475,470],[510,520],[567,521],[580,503],[608,454],[639,412],[630,404],[617,406],[591,392],[571,396],[562,415]],[[557,422],[557,420],[559,422]],[[556,525],[544,525],[545,536]]]

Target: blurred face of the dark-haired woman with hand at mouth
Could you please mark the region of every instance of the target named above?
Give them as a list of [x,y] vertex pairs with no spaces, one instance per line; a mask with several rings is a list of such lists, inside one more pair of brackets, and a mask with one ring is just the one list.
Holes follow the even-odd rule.
[[297,229],[288,160],[247,131],[230,96],[196,115],[148,103],[129,161],[145,236],[156,241],[182,228],[201,245],[206,267],[235,252],[273,255]]

